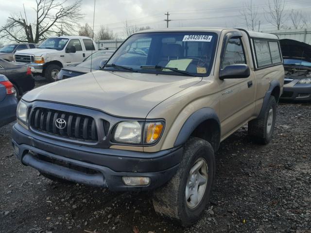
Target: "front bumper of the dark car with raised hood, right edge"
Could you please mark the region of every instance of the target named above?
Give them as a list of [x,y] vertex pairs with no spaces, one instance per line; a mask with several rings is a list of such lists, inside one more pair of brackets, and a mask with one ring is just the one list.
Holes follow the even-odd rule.
[[297,83],[294,86],[284,86],[281,100],[311,100],[311,84]]

